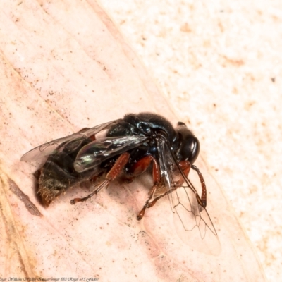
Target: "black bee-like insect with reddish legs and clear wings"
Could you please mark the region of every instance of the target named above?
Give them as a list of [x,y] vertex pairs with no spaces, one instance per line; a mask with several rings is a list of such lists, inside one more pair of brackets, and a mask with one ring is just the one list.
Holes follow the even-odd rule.
[[[204,178],[194,165],[199,152],[200,142],[185,123],[178,122],[173,128],[162,116],[140,113],[47,142],[24,154],[21,161],[48,156],[36,173],[38,194],[46,206],[84,180],[94,183],[94,191],[71,200],[71,204],[89,199],[121,174],[133,180],[152,167],[153,187],[137,219],[142,219],[147,208],[167,195],[180,237],[186,243],[189,240],[193,247],[197,241],[205,242],[196,249],[215,255],[220,250],[219,240],[205,209]],[[190,168],[200,178],[201,196],[188,178]]]

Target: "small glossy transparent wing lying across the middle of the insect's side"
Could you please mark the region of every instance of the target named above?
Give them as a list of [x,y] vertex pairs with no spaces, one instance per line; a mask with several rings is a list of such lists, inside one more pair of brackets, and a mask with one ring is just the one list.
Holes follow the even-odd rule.
[[142,136],[107,137],[95,140],[80,149],[76,156],[75,171],[87,171],[111,157],[140,146],[147,140]]

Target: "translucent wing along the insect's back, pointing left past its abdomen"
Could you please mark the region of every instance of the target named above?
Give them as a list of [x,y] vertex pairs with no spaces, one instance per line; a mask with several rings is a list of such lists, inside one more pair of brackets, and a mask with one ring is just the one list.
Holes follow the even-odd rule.
[[[83,140],[86,140],[88,137],[95,135],[102,130],[109,129],[111,126],[118,123],[118,121],[120,120],[118,119],[116,121],[109,121],[109,123],[103,123],[94,126],[94,128],[85,128],[83,130],[80,130],[78,133],[73,133],[66,137],[47,142],[25,153],[23,157],[21,157],[20,161],[36,161],[37,159],[49,156],[50,154],[58,154],[59,152],[63,151],[63,148],[66,147],[66,145],[68,145],[69,143],[71,143],[70,152],[71,149],[73,149],[74,151],[81,145]],[[74,140],[77,140],[77,142],[73,142]],[[60,146],[62,144],[63,146]]]

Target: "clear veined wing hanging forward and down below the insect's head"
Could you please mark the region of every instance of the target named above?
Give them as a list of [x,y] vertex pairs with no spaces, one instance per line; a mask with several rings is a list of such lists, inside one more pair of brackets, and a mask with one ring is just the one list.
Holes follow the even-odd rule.
[[[166,193],[171,202],[176,231],[183,242],[195,250],[219,255],[221,245],[207,209],[199,204],[199,194],[190,180],[180,171],[166,140],[158,139],[159,166]],[[178,180],[184,178],[182,184]]]

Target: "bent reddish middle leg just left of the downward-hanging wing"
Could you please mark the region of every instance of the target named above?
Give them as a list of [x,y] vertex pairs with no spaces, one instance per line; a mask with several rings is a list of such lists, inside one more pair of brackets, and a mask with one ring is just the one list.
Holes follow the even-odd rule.
[[137,214],[137,220],[142,219],[142,217],[144,216],[145,210],[147,209],[147,207],[149,205],[149,201],[154,196],[154,193],[156,192],[156,189],[157,189],[157,184],[159,183],[161,178],[160,178],[160,174],[159,174],[159,166],[157,164],[157,161],[152,156],[146,156],[146,157],[140,159],[139,161],[137,161],[136,164],[134,164],[130,168],[130,173],[133,176],[139,176],[141,173],[143,173],[143,172],[145,172],[147,170],[147,168],[149,167],[149,165],[151,163],[153,164],[153,181],[154,181],[154,185],[153,185],[151,191],[149,192],[149,197],[148,197],[147,201],[145,202],[143,208],[141,209],[139,214]]

